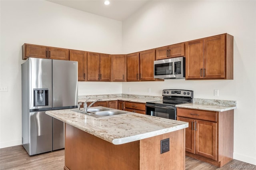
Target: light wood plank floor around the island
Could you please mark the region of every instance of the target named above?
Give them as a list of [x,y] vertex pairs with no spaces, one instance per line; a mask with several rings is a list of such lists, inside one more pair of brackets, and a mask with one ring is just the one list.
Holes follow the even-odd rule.
[[[1,170],[63,170],[64,149],[35,156],[29,156],[22,145],[0,149]],[[231,170],[230,166],[250,166],[239,160],[232,160],[222,168],[206,162],[186,157],[186,170]],[[236,168],[236,170],[256,170],[254,168]]]

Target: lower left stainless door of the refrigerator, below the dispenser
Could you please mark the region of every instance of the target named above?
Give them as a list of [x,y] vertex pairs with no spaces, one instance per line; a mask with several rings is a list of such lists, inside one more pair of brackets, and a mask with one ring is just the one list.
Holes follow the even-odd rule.
[[45,111],[30,112],[29,155],[52,151],[52,117]]

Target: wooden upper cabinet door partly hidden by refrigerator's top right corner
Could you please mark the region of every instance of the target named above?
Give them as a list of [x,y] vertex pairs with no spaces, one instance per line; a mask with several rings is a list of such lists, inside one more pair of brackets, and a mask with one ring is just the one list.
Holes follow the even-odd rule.
[[78,61],[78,81],[86,81],[86,51],[70,50],[70,60]]

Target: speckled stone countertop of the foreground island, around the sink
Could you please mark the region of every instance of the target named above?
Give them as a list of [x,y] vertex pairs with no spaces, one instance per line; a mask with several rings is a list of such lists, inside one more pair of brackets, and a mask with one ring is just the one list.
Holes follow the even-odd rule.
[[188,127],[188,123],[182,121],[130,113],[94,118],[70,109],[46,111],[47,115],[113,144],[133,142]]

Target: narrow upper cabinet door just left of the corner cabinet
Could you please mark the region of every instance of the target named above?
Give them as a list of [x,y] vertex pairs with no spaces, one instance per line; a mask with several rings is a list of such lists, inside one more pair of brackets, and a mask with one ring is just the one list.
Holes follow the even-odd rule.
[[111,79],[111,55],[100,54],[100,81]]

